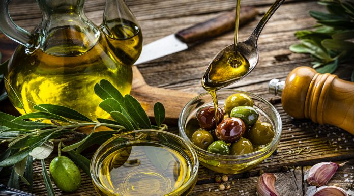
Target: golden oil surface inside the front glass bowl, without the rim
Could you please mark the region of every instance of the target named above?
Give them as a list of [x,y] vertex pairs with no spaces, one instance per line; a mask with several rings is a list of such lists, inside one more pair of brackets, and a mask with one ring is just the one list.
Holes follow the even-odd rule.
[[178,192],[191,175],[187,157],[184,151],[156,143],[128,144],[102,161],[99,180],[114,195],[157,196]]

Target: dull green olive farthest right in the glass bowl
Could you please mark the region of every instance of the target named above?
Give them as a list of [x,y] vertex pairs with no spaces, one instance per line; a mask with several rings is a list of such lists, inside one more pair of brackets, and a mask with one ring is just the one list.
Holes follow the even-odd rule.
[[255,145],[265,145],[274,137],[273,126],[269,123],[256,123],[248,132],[248,139]]

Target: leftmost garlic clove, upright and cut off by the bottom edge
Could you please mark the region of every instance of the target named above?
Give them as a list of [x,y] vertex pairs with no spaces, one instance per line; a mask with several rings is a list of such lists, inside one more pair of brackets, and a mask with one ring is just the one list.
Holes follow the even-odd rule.
[[259,176],[257,182],[257,193],[259,196],[278,196],[275,190],[275,181],[277,176],[271,173],[264,173]]

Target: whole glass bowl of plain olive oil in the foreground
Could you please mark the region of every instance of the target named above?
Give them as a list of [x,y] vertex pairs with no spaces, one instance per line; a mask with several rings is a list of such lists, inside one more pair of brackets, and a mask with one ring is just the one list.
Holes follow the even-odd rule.
[[91,176],[103,195],[187,195],[195,186],[198,158],[178,135],[135,130],[102,144],[91,160]]

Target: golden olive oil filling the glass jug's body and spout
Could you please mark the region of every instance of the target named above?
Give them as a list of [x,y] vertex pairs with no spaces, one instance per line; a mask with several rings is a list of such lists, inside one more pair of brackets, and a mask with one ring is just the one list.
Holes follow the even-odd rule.
[[[34,52],[24,46],[15,51],[6,83],[10,101],[21,113],[35,111],[34,104],[64,105],[80,111],[91,119],[107,118],[109,114],[98,104],[102,101],[94,92],[101,79],[110,81],[123,95],[129,94],[132,82],[132,62],[142,47],[142,35],[133,22],[110,21],[115,36],[100,33],[96,43],[87,47],[87,39],[75,26],[55,29],[45,45]],[[78,44],[82,43],[82,44]],[[16,95],[18,95],[18,98]],[[23,107],[21,106],[21,102]],[[34,104],[33,104],[34,103]]]

